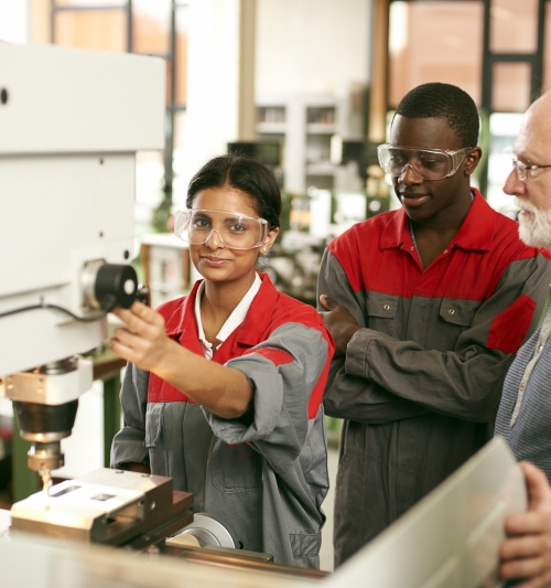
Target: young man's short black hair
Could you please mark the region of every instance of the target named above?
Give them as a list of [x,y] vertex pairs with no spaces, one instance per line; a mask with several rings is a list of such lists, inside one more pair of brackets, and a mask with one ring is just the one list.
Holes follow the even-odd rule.
[[478,145],[480,119],[476,104],[465,90],[452,84],[430,82],[417,86],[400,100],[396,115],[445,118],[460,140],[460,147]]

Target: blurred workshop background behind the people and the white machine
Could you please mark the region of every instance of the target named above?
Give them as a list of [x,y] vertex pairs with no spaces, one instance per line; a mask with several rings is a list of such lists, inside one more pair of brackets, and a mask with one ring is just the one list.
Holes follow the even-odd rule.
[[194,171],[230,150],[273,169],[284,231],[264,269],[311,301],[326,242],[397,206],[376,146],[418,84],[473,96],[485,153],[474,182],[515,215],[504,148],[549,84],[550,13],[547,0],[0,0],[0,40],[165,60],[165,149],[137,167],[137,265],[154,302],[193,281],[171,216]]

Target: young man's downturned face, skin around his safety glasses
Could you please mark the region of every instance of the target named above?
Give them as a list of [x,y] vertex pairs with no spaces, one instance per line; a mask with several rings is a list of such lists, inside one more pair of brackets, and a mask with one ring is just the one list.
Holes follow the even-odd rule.
[[[456,150],[462,146],[443,118],[407,118],[397,115],[390,129],[390,145],[419,149]],[[471,197],[465,182],[466,158],[457,171],[442,180],[423,180],[406,165],[400,177],[392,178],[396,195],[408,216],[415,222],[443,221],[465,214],[465,197]],[[466,188],[466,190],[465,190]]]

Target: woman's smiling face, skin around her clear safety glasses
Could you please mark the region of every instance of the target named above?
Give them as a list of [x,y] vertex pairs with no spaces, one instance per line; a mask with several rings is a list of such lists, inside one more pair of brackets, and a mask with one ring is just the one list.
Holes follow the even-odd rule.
[[[245,192],[234,188],[208,188],[197,192],[193,199],[194,210],[212,210],[239,212],[258,217],[256,209],[251,205],[252,199]],[[213,226],[213,228],[216,228]],[[268,234],[268,240],[261,247],[253,249],[231,249],[220,239],[219,234],[213,231],[208,240],[201,245],[190,245],[191,259],[197,271],[213,282],[242,282],[244,287],[252,284],[259,252],[268,250],[279,229]]]

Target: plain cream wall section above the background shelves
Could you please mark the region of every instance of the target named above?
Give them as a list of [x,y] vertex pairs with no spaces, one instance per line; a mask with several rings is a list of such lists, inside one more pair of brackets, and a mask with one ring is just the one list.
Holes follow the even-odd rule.
[[346,93],[368,78],[370,0],[258,0],[256,93]]

